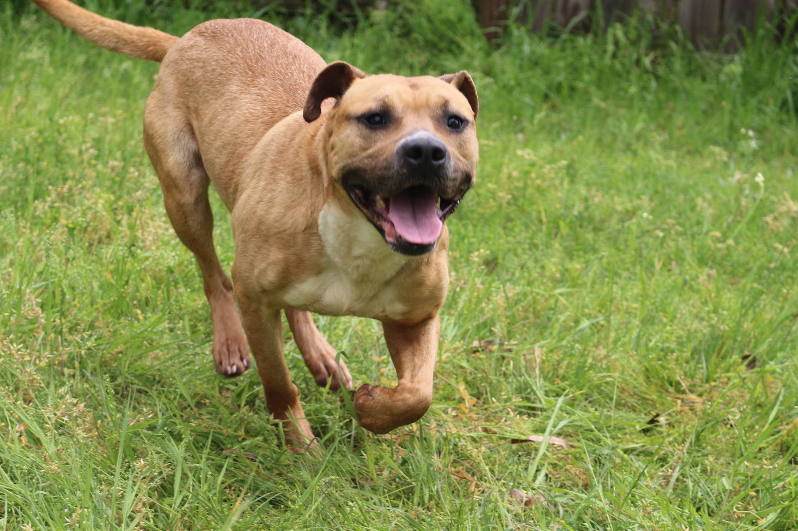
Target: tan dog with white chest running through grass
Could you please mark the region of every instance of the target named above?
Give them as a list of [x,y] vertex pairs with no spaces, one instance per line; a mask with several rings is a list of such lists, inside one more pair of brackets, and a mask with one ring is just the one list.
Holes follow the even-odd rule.
[[[67,0],[34,2],[96,45],[163,62],[144,144],[202,272],[216,370],[247,369],[248,340],[269,411],[301,450],[314,436],[282,356],[280,310],[314,379],[331,387],[352,379],[309,312],[371,317],[399,384],[362,385],[360,423],[385,433],[420,419],[448,284],[443,221],[476,171],[468,73],[366,77],[255,19],[213,20],[178,38]],[[213,246],[209,183],[232,213],[232,283]]]

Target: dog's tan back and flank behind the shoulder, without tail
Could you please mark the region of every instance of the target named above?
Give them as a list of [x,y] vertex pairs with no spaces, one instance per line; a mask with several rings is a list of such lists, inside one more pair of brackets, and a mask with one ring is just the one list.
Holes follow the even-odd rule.
[[237,183],[230,176],[239,175],[245,154],[269,129],[302,110],[325,66],[313,49],[267,22],[203,22],[164,57],[145,120],[188,120],[207,174],[231,207]]

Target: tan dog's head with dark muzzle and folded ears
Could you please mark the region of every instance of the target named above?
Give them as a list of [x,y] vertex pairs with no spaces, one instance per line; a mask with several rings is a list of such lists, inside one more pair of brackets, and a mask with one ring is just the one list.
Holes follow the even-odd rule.
[[444,220],[474,184],[476,88],[465,71],[441,77],[366,77],[334,62],[316,77],[303,116],[321,116],[322,166],[402,254],[435,248]]

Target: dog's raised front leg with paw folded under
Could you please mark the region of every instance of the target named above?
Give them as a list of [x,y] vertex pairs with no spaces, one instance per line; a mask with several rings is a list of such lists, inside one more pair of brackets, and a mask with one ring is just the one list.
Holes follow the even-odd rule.
[[429,409],[440,339],[437,314],[409,326],[384,321],[382,329],[399,384],[393,389],[364,384],[354,395],[361,426],[374,433],[387,433],[413,423]]

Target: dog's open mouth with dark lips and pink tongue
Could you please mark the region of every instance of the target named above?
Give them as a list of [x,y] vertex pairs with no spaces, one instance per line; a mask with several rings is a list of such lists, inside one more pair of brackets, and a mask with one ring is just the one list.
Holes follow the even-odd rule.
[[433,250],[444,219],[460,204],[461,194],[440,197],[430,187],[409,187],[385,196],[368,188],[346,187],[352,201],[380,230],[385,242],[403,254],[424,254]]

